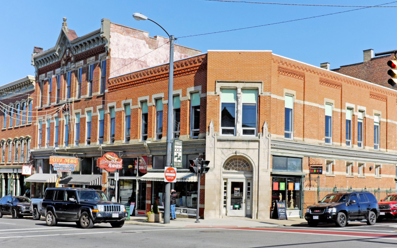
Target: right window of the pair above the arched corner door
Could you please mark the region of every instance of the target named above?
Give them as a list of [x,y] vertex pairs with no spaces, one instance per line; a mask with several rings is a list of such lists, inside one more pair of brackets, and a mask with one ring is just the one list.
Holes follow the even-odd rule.
[[257,91],[241,90],[243,94],[243,111],[241,127],[243,135],[256,135],[257,130]]

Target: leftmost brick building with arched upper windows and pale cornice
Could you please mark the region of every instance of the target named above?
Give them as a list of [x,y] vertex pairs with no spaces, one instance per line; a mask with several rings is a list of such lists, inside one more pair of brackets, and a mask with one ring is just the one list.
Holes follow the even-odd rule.
[[25,193],[22,165],[32,163],[34,76],[0,86],[0,196]]

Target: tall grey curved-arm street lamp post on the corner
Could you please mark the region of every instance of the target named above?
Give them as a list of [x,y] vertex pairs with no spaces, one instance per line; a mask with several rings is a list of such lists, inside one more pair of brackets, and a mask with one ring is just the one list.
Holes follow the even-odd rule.
[[[174,36],[169,35],[165,29],[160,26],[157,22],[147,18],[146,16],[140,13],[134,13],[133,18],[137,21],[149,20],[156,23],[160,28],[167,33],[170,38],[170,73],[168,80],[168,113],[167,113],[167,167],[171,167],[172,164],[172,123],[174,116],[174,106],[173,106],[173,96],[172,93],[174,91]],[[170,223],[170,193],[171,193],[171,183],[165,184],[165,199],[164,199],[164,224]]]

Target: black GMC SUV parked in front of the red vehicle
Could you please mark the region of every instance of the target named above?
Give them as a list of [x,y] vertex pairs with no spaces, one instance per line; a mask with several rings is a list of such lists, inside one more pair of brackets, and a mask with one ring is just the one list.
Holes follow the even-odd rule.
[[320,222],[344,227],[347,221],[360,220],[374,225],[379,213],[378,201],[370,192],[336,192],[308,206],[305,219],[311,227],[316,227]]

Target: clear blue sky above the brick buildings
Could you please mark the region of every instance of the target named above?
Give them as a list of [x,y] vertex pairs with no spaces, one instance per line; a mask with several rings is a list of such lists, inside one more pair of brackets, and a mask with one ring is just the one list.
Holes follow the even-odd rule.
[[[256,0],[270,1],[270,0]],[[387,0],[272,0],[282,3],[377,5]],[[397,5],[392,3],[390,5]],[[140,12],[160,23],[175,37],[263,25],[353,8],[284,6],[205,0],[68,0],[3,1],[0,9],[0,85],[34,75],[30,65],[34,46],[53,47],[62,18],[82,36],[100,28],[100,20],[166,36],[149,21],[135,21]],[[397,49],[391,41],[390,24],[397,8],[369,8],[337,15],[295,21],[241,31],[181,38],[180,45],[207,50],[272,50],[273,53],[331,68],[362,62],[362,51],[375,53]]]

